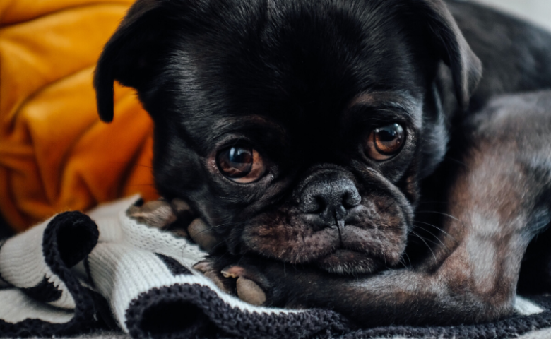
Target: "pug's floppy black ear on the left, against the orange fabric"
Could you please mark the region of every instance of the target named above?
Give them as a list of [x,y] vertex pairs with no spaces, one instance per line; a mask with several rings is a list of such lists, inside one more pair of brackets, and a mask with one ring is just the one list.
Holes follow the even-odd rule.
[[94,74],[97,112],[105,122],[113,120],[113,82],[138,88],[147,78],[164,30],[158,18],[161,4],[162,0],[136,1],[105,44]]

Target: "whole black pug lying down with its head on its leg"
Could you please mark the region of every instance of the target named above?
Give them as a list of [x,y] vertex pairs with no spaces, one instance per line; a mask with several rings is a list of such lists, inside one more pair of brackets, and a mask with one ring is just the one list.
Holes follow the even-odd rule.
[[[551,220],[551,126],[476,112],[551,88],[547,32],[463,1],[138,0],[97,64],[104,121],[113,81],[153,117],[160,194],[221,239],[203,269],[228,288],[365,325],[511,312]],[[528,280],[551,263],[533,246]]]

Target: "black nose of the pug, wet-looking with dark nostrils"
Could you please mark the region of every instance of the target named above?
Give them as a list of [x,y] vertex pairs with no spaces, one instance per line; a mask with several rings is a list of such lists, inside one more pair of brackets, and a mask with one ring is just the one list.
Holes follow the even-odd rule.
[[317,214],[326,227],[343,221],[348,210],[360,205],[362,197],[348,178],[323,178],[308,184],[300,198],[303,213]]

